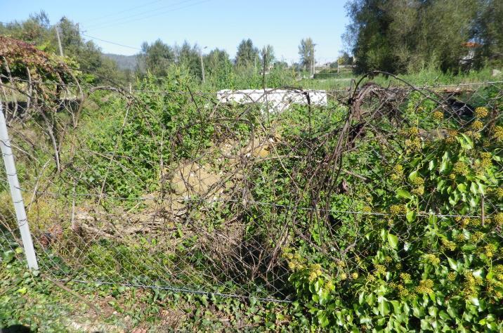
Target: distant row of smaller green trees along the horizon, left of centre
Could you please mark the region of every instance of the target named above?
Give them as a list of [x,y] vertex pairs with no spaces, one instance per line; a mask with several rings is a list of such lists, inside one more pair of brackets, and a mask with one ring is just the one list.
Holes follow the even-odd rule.
[[[85,40],[79,31],[79,25],[63,17],[54,25],[48,15],[41,11],[32,14],[22,22],[0,23],[0,34],[22,41],[27,41],[48,53],[59,54],[57,33],[63,54],[74,61],[74,65],[84,72],[84,77],[91,83],[104,82],[113,78],[123,84],[143,77],[146,73],[157,77],[166,76],[171,67],[183,67],[193,77],[203,80],[210,77],[216,82],[228,82],[229,77],[255,76],[260,81],[265,70],[310,71],[314,63],[315,44],[311,38],[302,39],[299,45],[299,63],[288,64],[275,56],[272,45],[256,46],[251,39],[243,39],[237,46],[235,58],[222,48],[205,51],[197,44],[184,41],[181,45],[169,45],[161,39],[152,43],[143,42],[141,51],[136,55],[137,65],[134,70],[119,70],[114,60],[103,55],[101,48],[93,41]],[[204,72],[204,74],[203,74]]]

